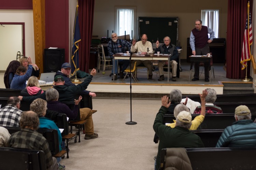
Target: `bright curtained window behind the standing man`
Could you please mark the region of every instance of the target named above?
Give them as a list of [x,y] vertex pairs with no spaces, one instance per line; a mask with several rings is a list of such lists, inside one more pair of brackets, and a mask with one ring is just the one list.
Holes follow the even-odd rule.
[[[202,10],[201,11],[202,25],[214,31],[215,38],[219,35],[219,10]],[[208,34],[209,35],[209,34]],[[210,35],[209,35],[210,37]]]

